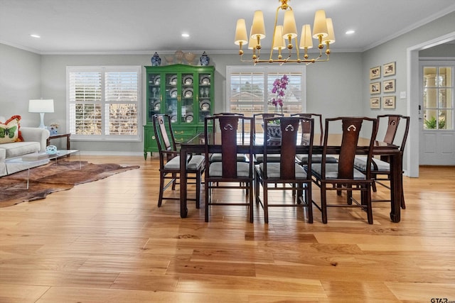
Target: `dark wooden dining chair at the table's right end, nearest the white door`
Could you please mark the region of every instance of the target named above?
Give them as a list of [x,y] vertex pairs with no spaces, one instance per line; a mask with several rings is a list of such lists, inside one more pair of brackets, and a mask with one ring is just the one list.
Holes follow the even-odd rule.
[[[405,126],[400,127],[400,131],[402,132],[400,144],[400,153],[403,155],[405,152],[405,145],[407,141],[407,134],[410,130],[410,117],[409,116],[402,116],[402,115],[394,115],[394,114],[387,114],[387,115],[378,115],[378,128],[380,128],[381,124],[387,123],[387,128],[385,128],[385,136],[382,139],[383,142],[388,144],[393,144],[397,135],[397,131],[400,126],[400,121],[405,120]],[[402,125],[402,123],[401,123]],[[361,172],[365,172],[365,167],[367,165],[366,158],[363,156],[356,156],[354,160],[354,166]],[[403,172],[401,172],[403,173]],[[371,160],[371,175],[375,182],[373,182],[373,192],[376,191],[375,184],[380,184],[383,187],[390,190],[390,177],[391,177],[391,170],[390,170],[390,160],[388,156],[381,156],[380,159],[373,158]],[[383,181],[389,182],[388,184],[384,183]],[[403,193],[403,184],[401,182],[401,208],[406,208],[405,203],[405,194]],[[390,202],[390,199],[373,199],[373,202]]]

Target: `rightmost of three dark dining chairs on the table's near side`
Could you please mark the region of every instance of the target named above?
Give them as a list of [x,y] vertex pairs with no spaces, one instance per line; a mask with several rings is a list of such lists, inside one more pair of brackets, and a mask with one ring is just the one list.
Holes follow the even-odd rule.
[[[368,140],[366,146],[367,168],[365,173],[356,170],[354,167],[354,158],[358,149],[358,141],[362,126],[370,126],[371,131],[363,131]],[[321,211],[322,222],[327,223],[328,207],[360,207],[367,212],[368,223],[373,224],[373,209],[371,206],[371,187],[373,177],[371,175],[371,158],[373,156],[373,145],[378,131],[378,119],[368,117],[337,117],[326,119],[323,152],[321,163],[311,164],[311,175],[313,175],[314,184],[321,189],[321,203],[313,204]],[[341,142],[329,141],[329,126],[339,128],[333,133],[341,132]],[[339,148],[339,158],[336,163],[326,161],[327,154],[330,153],[329,147]],[[331,186],[328,186],[331,185]],[[341,195],[342,191],[347,192],[347,203],[340,204],[327,202],[327,193],[336,191]],[[353,197],[353,192],[360,192],[360,202]],[[353,203],[354,202],[354,203]]]

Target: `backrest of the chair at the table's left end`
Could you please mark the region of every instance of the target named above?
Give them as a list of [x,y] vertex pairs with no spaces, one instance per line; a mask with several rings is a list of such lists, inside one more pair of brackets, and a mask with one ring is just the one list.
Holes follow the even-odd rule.
[[[177,150],[176,140],[173,136],[171,116],[166,114],[155,114],[152,121],[159,150],[160,164],[164,165],[164,155],[166,155],[166,160],[173,158],[173,156],[164,152]],[[171,134],[171,138],[169,138],[168,133]]]

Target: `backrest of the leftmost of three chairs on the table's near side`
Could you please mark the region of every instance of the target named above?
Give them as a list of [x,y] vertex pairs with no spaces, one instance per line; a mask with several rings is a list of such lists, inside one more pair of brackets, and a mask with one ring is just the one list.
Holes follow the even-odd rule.
[[[218,116],[206,116],[204,120],[204,137],[205,137],[205,157],[209,157],[213,153],[213,147],[218,145],[221,149],[221,162],[223,167],[223,178],[235,179],[237,176],[237,150],[239,145],[248,145],[248,155],[252,159],[253,155],[253,141],[248,140],[248,143],[243,141],[242,136],[239,136],[239,125],[245,125],[245,123],[252,123],[251,117],[245,117],[242,115],[218,115]],[[215,142],[215,133],[210,132],[210,126],[220,126],[220,142]],[[250,128],[250,136],[252,138],[254,127]],[[242,131],[243,134],[243,131]],[[219,151],[217,152],[219,153]],[[252,174],[252,160],[249,161],[250,174]],[[209,172],[210,162],[206,161],[206,172]],[[249,177],[252,177],[250,175]]]

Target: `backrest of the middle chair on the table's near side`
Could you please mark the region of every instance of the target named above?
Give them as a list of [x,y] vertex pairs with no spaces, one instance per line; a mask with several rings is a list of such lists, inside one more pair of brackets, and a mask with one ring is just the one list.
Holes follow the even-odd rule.
[[[271,127],[272,123],[279,122],[279,126],[282,131],[282,140],[280,153],[280,179],[292,180],[295,179],[295,157],[297,153],[298,145],[308,146],[308,157],[309,157],[309,171],[311,171],[311,155],[313,153],[313,141],[314,141],[314,119],[301,117],[301,116],[290,116],[290,117],[273,117],[264,119],[264,128]],[[303,130],[309,133],[308,141],[297,140],[297,136]],[[264,163],[267,163],[267,155],[269,150],[275,145],[271,141],[264,141]],[[264,165],[264,176],[267,176],[267,165]],[[311,174],[308,174],[311,178]]]

